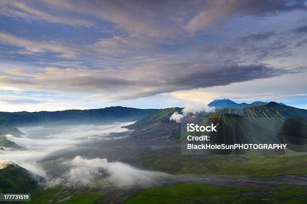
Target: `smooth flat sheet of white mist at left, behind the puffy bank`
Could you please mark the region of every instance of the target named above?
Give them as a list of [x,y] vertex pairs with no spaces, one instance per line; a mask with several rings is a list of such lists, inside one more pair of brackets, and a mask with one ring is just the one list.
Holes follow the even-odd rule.
[[[97,139],[118,139],[109,136],[111,133],[126,132],[122,126],[133,122],[115,122],[107,125],[63,125],[63,126],[30,126],[20,128],[26,135],[15,137],[7,135],[10,141],[22,146],[21,150],[4,150],[0,152],[0,160],[12,160],[18,165],[31,170],[45,178],[48,175],[39,161],[52,153],[72,149],[84,142]],[[120,137],[122,138],[122,137]]]

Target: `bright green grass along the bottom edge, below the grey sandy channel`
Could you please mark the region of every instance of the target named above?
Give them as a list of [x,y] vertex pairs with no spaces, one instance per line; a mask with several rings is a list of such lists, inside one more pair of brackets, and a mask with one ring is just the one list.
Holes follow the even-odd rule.
[[242,187],[186,182],[140,190],[125,203],[306,203],[306,192],[300,185]]

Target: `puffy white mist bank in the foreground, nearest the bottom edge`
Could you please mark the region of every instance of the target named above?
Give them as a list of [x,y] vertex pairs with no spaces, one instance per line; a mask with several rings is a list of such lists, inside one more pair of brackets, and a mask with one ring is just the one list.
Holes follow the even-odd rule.
[[111,184],[118,187],[150,185],[156,178],[170,177],[168,173],[135,168],[127,163],[108,162],[106,158],[87,159],[76,156],[62,162],[69,170],[48,182],[49,186],[63,184],[68,186],[93,186]]

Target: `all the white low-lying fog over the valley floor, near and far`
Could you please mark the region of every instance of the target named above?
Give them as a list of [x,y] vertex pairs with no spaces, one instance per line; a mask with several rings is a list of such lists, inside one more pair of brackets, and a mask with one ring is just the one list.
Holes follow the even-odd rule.
[[[25,133],[23,137],[7,135],[7,138],[23,149],[6,149],[0,153],[0,160],[12,160],[43,176],[49,185],[69,183],[74,186],[82,186],[93,183],[111,183],[126,186],[154,182],[155,177],[166,174],[141,170],[119,161],[108,162],[107,158],[99,156],[86,158],[79,154],[80,151],[76,151],[78,154],[72,155],[72,158],[61,156],[62,152],[74,152],[73,149],[80,148],[82,145],[87,145],[87,151],[89,151],[92,144],[110,140],[115,142],[128,137],[131,130],[122,126],[131,123],[133,122],[22,127],[19,129]],[[58,154],[54,160],[50,159],[47,163],[42,162],[46,157],[54,154]],[[58,175],[50,175],[48,172],[52,170],[58,171]]]

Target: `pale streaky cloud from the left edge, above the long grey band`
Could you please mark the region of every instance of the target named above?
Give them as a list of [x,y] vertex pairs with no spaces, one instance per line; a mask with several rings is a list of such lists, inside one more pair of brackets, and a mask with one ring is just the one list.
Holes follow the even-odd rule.
[[[46,53],[46,52],[55,52],[53,56],[58,58],[66,59],[76,59],[82,57],[87,59],[87,55],[92,57],[97,57],[97,59],[103,60],[105,58],[112,58],[114,54],[120,54],[122,57],[124,55],[128,56],[137,56],[140,53],[146,56],[147,52],[144,52],[144,49],[150,48],[151,50],[154,47],[162,42],[160,38],[147,37],[143,35],[137,36],[112,36],[107,38],[98,38],[92,44],[81,45],[81,44],[67,44],[67,43],[58,43],[54,41],[39,41],[27,39],[25,37],[19,37],[7,32],[0,31],[0,43],[13,45],[17,47],[22,47],[25,50],[19,51],[8,51],[9,53],[19,53],[24,54],[37,54],[37,53]],[[78,58],[79,59],[79,58]],[[131,60],[130,58],[129,60]],[[39,64],[50,64],[58,66],[74,66],[81,67],[80,62],[36,62]]]

